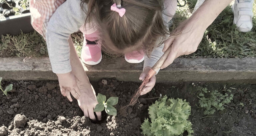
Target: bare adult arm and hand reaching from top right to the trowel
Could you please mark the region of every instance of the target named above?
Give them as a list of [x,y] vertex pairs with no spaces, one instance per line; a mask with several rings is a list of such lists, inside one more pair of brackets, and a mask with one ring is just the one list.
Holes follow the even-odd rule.
[[163,51],[171,46],[171,52],[161,69],[172,64],[177,57],[195,52],[203,38],[204,31],[231,1],[206,0],[188,20],[182,22],[165,41]]

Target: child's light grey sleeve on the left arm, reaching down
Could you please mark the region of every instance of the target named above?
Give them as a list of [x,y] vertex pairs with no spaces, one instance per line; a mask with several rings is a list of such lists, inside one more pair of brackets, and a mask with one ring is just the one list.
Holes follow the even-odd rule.
[[[83,7],[86,10],[86,5]],[[80,0],[67,0],[52,15],[46,30],[46,42],[52,71],[56,74],[71,72],[70,34],[85,24],[86,13]]]

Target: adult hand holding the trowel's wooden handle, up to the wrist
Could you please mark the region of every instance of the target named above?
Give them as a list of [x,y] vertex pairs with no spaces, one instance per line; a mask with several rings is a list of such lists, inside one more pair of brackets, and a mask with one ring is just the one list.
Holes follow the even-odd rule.
[[163,52],[170,46],[171,51],[161,69],[172,64],[174,59],[179,56],[195,52],[203,38],[204,31],[199,25],[195,25],[193,21],[187,20],[182,22],[164,43]]

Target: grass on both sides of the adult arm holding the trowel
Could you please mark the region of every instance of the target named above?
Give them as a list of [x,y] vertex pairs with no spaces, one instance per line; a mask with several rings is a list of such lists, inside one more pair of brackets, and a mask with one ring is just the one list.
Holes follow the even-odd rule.
[[[185,7],[179,7],[176,12],[174,26],[191,16],[197,0],[187,0]],[[253,13],[256,14],[256,2]],[[231,5],[225,8],[216,20],[207,28],[198,50],[183,58],[242,58],[256,57],[256,17],[253,17],[251,32],[242,33],[233,25]]]

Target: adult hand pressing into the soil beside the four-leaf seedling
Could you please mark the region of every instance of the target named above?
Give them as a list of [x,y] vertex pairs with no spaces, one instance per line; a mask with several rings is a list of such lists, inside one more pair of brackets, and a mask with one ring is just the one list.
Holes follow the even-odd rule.
[[[84,115],[92,120],[96,120],[94,115],[94,108],[98,104],[96,100],[95,91],[90,83],[80,82],[77,80],[77,85],[81,90],[81,96],[79,97],[78,105],[83,110]],[[101,120],[101,112],[96,112],[97,119]]]

